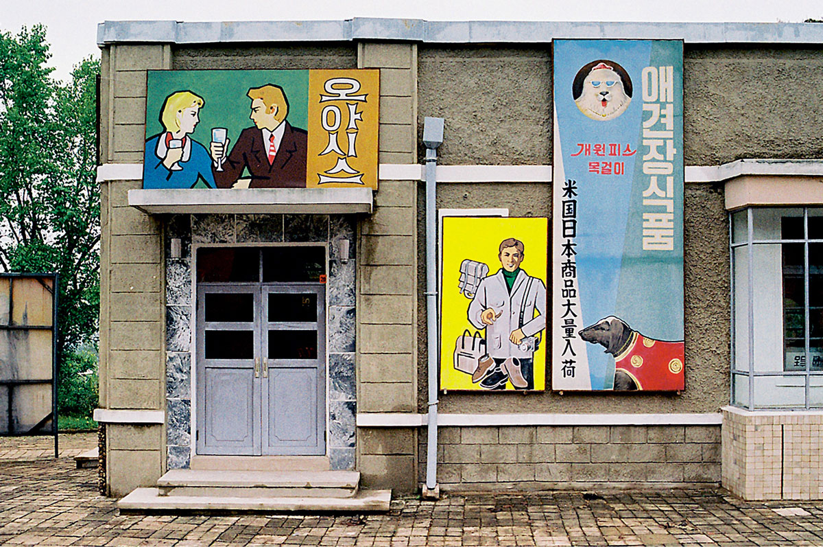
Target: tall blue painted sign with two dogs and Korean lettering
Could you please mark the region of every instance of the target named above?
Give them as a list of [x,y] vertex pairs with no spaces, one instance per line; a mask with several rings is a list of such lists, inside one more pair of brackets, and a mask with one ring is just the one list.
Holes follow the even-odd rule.
[[554,40],[553,390],[683,390],[683,44]]

